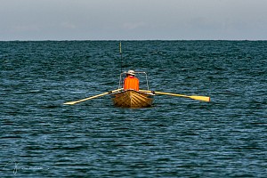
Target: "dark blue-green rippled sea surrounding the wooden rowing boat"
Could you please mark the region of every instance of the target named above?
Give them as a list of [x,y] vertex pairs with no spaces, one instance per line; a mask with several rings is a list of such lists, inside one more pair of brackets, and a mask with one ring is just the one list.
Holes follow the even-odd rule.
[[[0,177],[267,177],[267,41],[122,41],[122,60],[118,46],[0,42]],[[117,89],[121,69],[211,101],[63,105]]]

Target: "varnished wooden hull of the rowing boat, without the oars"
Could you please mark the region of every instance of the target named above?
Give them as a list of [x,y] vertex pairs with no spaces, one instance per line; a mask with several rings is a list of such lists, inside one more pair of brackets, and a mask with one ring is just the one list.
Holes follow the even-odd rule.
[[111,94],[115,106],[122,108],[146,108],[153,102],[153,93],[143,93],[135,90],[125,90]]

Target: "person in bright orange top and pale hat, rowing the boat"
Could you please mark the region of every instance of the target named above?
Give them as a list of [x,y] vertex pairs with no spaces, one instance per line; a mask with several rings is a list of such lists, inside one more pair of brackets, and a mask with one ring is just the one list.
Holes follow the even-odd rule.
[[135,77],[134,70],[128,70],[126,72],[124,90],[130,89],[139,91],[139,79]]

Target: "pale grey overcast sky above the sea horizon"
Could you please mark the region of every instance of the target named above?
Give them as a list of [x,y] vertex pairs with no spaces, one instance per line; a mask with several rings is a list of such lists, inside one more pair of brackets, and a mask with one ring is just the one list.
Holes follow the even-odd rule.
[[267,40],[267,0],[0,0],[0,40]]

